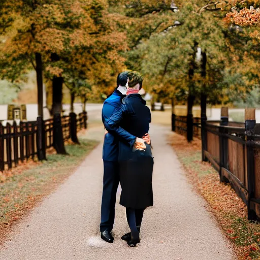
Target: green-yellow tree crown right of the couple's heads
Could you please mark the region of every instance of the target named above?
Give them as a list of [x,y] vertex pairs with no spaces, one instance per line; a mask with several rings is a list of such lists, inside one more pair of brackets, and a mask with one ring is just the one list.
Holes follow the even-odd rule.
[[154,33],[132,52],[132,57],[139,57],[143,73],[157,80],[157,88],[174,83],[170,92],[188,98],[189,113],[197,96],[203,93],[215,100],[219,95],[217,83],[225,61],[221,20],[199,10],[194,1],[182,4],[179,12],[171,14],[180,26]]

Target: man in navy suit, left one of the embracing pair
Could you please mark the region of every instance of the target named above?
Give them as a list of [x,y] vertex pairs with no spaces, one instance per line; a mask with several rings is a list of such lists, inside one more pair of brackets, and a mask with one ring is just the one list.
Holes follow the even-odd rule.
[[[105,128],[107,122],[105,118],[109,118],[114,110],[120,105],[121,100],[126,95],[126,83],[128,72],[122,72],[117,77],[117,88],[109,98],[106,99],[102,109],[102,120]],[[108,129],[108,128],[107,128]],[[116,192],[119,185],[119,140],[126,142],[129,146],[134,146],[136,137],[126,132],[123,128],[115,129],[116,133],[109,132],[105,134],[103,146],[103,161],[104,161],[104,180],[103,180],[103,195],[101,206],[101,238],[108,243],[113,243],[114,238],[111,231],[115,219],[115,203]]]

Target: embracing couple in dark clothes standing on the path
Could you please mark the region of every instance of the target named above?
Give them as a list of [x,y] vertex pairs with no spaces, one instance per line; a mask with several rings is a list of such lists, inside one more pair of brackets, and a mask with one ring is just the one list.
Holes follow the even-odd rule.
[[101,206],[101,238],[113,243],[116,192],[120,182],[120,204],[126,208],[131,232],[123,235],[131,247],[140,243],[144,210],[153,205],[153,157],[149,124],[151,112],[139,94],[143,77],[122,72],[117,87],[104,102],[102,120],[106,129],[103,161],[104,186]]

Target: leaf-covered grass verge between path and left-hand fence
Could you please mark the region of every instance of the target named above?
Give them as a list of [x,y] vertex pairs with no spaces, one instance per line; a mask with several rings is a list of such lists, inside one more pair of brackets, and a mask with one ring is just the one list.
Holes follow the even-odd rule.
[[98,144],[82,140],[81,145],[67,143],[70,155],[48,152],[47,161],[28,160],[17,168],[0,173],[0,243],[15,222],[50,194],[78,167],[85,156]]

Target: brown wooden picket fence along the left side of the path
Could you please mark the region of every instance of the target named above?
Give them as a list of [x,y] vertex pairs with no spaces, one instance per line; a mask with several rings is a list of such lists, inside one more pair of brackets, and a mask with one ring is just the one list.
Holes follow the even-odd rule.
[[[59,116],[60,117],[60,116]],[[75,140],[75,135],[87,127],[86,112],[62,116],[61,127],[63,140]],[[13,121],[4,126],[0,122],[0,171],[11,169],[29,158],[45,158],[46,149],[54,146],[54,119],[20,122]],[[77,137],[76,137],[77,139]],[[73,141],[74,141],[73,140]]]

